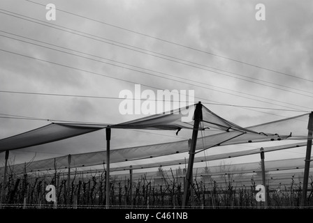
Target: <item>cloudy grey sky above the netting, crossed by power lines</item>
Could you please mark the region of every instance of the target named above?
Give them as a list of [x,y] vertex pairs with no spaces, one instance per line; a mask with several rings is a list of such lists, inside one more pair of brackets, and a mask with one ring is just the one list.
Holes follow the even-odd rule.
[[[313,111],[310,0],[34,2],[0,3],[1,139],[49,123],[12,119],[7,115],[96,123],[122,123],[139,118],[120,114],[121,100],[25,94],[117,98],[124,89],[133,91],[134,83],[154,92],[194,90],[196,101],[204,103],[270,108],[204,104],[243,127]],[[46,20],[48,3],[54,3],[58,9],[55,21]],[[265,21],[255,18],[257,3],[265,6]],[[188,131],[178,136],[175,132],[154,133],[168,137],[117,130],[112,132],[113,146],[191,137]],[[104,147],[105,135],[94,134],[98,138],[101,134],[103,145],[98,140],[92,141],[89,148],[74,144],[68,151],[59,147],[29,151],[36,151],[37,158],[99,151]],[[34,156],[19,151],[12,154],[17,160]],[[291,153],[295,154],[303,155],[303,151]]]

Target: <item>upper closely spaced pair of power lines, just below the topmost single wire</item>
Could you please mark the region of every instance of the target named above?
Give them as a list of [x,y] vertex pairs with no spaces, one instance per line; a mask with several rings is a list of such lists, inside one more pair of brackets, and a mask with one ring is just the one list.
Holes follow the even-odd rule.
[[[0,10],[3,10],[3,9],[0,9]],[[10,12],[10,11],[8,11],[8,10],[3,10],[3,11],[6,11],[6,12],[8,12],[8,13],[13,13],[13,12]],[[0,12],[0,13],[3,13],[3,12]],[[10,15],[10,14],[7,14],[7,13],[3,13],[3,14]],[[13,14],[15,14],[15,15],[20,15],[20,14],[18,14],[18,13],[13,13]],[[15,16],[15,15],[10,15],[10,16],[17,17],[17,16]],[[27,16],[24,16],[24,15],[20,15],[20,16],[22,16],[22,17],[27,17]],[[24,19],[24,18],[22,18],[22,17],[17,17],[17,18],[22,19],[22,20],[27,20],[27,19]],[[34,19],[34,18],[32,18],[32,17],[27,17],[27,18],[30,18],[31,20],[36,20],[36,19]],[[29,21],[29,22],[34,22],[34,21],[31,21],[31,20],[27,20],[27,21]],[[36,20],[36,21],[43,22],[43,21],[41,21],[41,20]],[[48,23],[48,22],[43,22],[43,23],[46,23],[46,24],[42,24],[42,23],[39,23],[39,22],[34,22],[34,23],[36,23],[36,24],[41,24],[41,25],[43,25],[43,26],[48,26],[48,27],[53,28],[53,29],[59,29],[59,28],[57,28],[57,27],[54,27],[54,26],[59,26],[59,25],[53,24],[53,26],[51,26],[50,23]],[[124,43],[119,43],[119,42],[117,42],[117,41],[115,41],[115,40],[108,40],[107,38],[102,38],[102,37],[100,37],[100,36],[94,36],[94,35],[89,34],[89,33],[85,33],[85,32],[82,32],[82,31],[77,31],[77,30],[75,30],[75,29],[69,29],[69,28],[64,27],[64,26],[59,26],[59,27],[63,28],[63,29],[59,29],[59,30],[61,30],[61,31],[66,31],[66,32],[68,32],[68,33],[73,33],[73,34],[75,34],[75,35],[82,36],[82,37],[85,37],[85,38],[90,38],[90,39],[92,39],[92,40],[96,40],[96,41],[99,41],[99,42],[102,42],[102,43],[107,43],[107,44],[114,45],[114,46],[117,46],[117,47],[122,47],[122,48],[124,48],[124,49],[129,49],[129,50],[132,50],[132,51],[134,51],[134,52],[140,52],[140,53],[142,53],[142,54],[147,54],[147,55],[154,56],[154,57],[157,57],[157,58],[160,58],[160,59],[165,59],[165,60],[172,61],[172,62],[175,62],[175,63],[180,63],[180,64],[183,64],[183,65],[185,65],[185,66],[190,66],[190,67],[192,67],[192,68],[198,68],[198,69],[200,69],[200,70],[206,70],[206,71],[209,71],[209,72],[214,72],[214,73],[219,74],[219,75],[224,75],[224,76],[227,76],[227,77],[233,77],[233,76],[231,76],[231,75],[226,75],[226,74],[221,73],[221,72],[216,72],[216,71],[214,71],[214,70],[208,70],[208,69],[206,69],[206,68],[198,67],[198,66],[203,66],[203,67],[207,67],[207,68],[212,68],[212,67],[210,67],[210,66],[205,66],[205,65],[202,65],[202,64],[199,64],[199,63],[194,63],[194,62],[191,62],[191,61],[186,61],[186,60],[183,60],[183,59],[178,59],[178,58],[176,58],[176,57],[174,57],[174,56],[168,56],[168,55],[166,55],[166,54],[159,54],[159,53],[157,53],[157,52],[153,52],[153,51],[150,51],[150,50],[147,50],[147,49],[143,49],[143,48],[140,48],[140,47],[135,47],[135,46],[127,45],[127,44],[124,44]],[[71,31],[64,30],[64,29],[68,29],[68,30],[71,30]],[[74,33],[74,32],[72,32],[72,31],[75,31],[75,32],[78,32],[78,33]],[[84,35],[79,34],[79,33],[84,33],[84,34],[87,34],[87,35],[89,35],[89,36],[84,36]],[[111,42],[113,42],[113,43],[108,43],[108,42],[106,42],[106,41],[99,40],[99,39],[96,39],[96,38],[93,38],[93,37],[90,37],[90,36],[93,36],[93,37],[96,37],[96,38],[100,38],[100,39],[103,39],[103,40],[108,40],[108,41],[111,41]],[[116,45],[115,43],[118,43],[118,44],[120,44],[120,45]],[[128,47],[124,47],[124,46],[122,46],[122,45],[126,45],[126,46],[128,46]],[[132,49],[132,48],[129,48],[129,47],[133,47],[133,48],[135,48],[135,49]],[[139,51],[139,50],[137,50],[137,49],[144,50],[144,51],[146,51],[146,52],[142,52],[142,51]],[[161,56],[157,56],[157,55],[150,54],[150,53],[147,53],[147,52],[152,52],[152,53],[154,53],[154,54],[159,54],[159,55],[161,55]],[[172,58],[172,59],[164,58],[163,56],[167,56],[167,57]],[[176,59],[176,60],[178,60],[178,61],[175,61],[175,60],[173,60],[173,59]],[[180,62],[180,61],[184,61],[184,62],[187,62],[187,63],[182,63],[182,62]],[[195,65],[197,65],[197,66],[194,66],[194,65],[191,65],[191,64],[188,64],[188,63],[193,63],[193,64],[195,64]],[[223,71],[223,72],[228,72],[228,73],[231,73],[231,74],[233,74],[233,75],[239,75],[239,74],[236,74],[236,73],[234,73],[234,72],[229,72],[229,71],[221,70],[221,69],[218,69],[218,68],[212,68],[212,69],[220,70],[220,71]],[[242,77],[245,77],[245,78],[249,78],[249,79],[255,79],[255,78],[253,78],[253,77],[247,77],[247,76],[245,76],[245,75],[239,75],[239,76],[242,76]],[[262,86],[268,86],[268,87],[270,87],[270,88],[278,89],[278,90],[281,90],[281,91],[288,91],[288,92],[291,92],[291,93],[296,93],[296,92],[289,91],[289,90],[286,90],[286,89],[280,89],[280,88],[277,88],[277,87],[274,87],[274,86],[269,86],[269,85],[266,85],[266,84],[261,84],[261,83],[258,83],[258,82],[249,81],[249,80],[247,80],[247,79],[242,79],[242,78],[240,78],[240,77],[233,77],[233,78],[235,78],[235,79],[240,79],[240,80],[245,81],[245,82],[251,82],[251,83],[254,83],[254,84],[259,84],[259,85],[262,85]],[[256,79],[256,80],[258,80],[258,81],[260,81],[260,82],[265,82],[265,81],[260,80],[260,79]],[[312,82],[313,82],[313,81],[312,81]],[[272,83],[272,82],[268,82],[268,83],[274,84],[274,83]],[[279,85],[279,84],[275,84],[275,85]],[[286,86],[284,86],[284,87],[286,87]],[[297,90],[297,91],[303,91],[303,90],[298,90],[298,89],[296,89],[296,90]],[[311,93],[311,92],[307,91],[307,93]],[[296,94],[298,94],[298,95],[304,95],[304,96],[307,96],[307,97],[311,97],[311,98],[312,98],[312,96],[310,96],[310,95],[305,95],[305,94],[302,94],[302,93],[296,93]]]

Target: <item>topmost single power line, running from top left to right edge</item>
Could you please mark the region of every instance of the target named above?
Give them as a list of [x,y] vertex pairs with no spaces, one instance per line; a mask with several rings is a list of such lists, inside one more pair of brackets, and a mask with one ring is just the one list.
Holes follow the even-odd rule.
[[[45,6],[45,5],[43,5],[43,4],[41,4],[41,3],[37,3],[37,2],[35,2],[35,1],[30,1],[30,0],[26,0],[26,1],[29,1],[29,2],[31,2],[31,3],[36,3],[36,4],[41,5],[41,6]],[[158,38],[158,37],[154,37],[154,36],[147,35],[147,34],[145,34],[145,33],[140,33],[140,32],[138,32],[138,31],[133,31],[133,30],[131,30],[131,29],[126,29],[126,28],[124,28],[124,27],[122,27],[122,26],[117,26],[117,25],[109,24],[108,22],[102,22],[102,21],[99,21],[99,20],[94,20],[94,19],[89,18],[89,17],[85,17],[85,16],[82,16],[82,15],[78,15],[78,14],[75,14],[75,13],[70,13],[70,12],[68,12],[68,11],[66,11],[66,10],[61,10],[61,9],[59,9],[59,7],[57,8],[57,10],[59,10],[59,11],[61,11],[61,12],[64,12],[64,13],[68,13],[68,14],[70,14],[70,15],[75,15],[75,16],[78,16],[78,17],[82,17],[82,18],[87,19],[87,20],[91,20],[91,21],[94,21],[94,22],[99,22],[99,23],[105,24],[105,25],[107,25],[107,26],[112,26],[112,27],[115,27],[115,28],[117,28],[117,29],[122,29],[122,30],[124,30],[124,31],[129,31],[129,32],[131,32],[131,33],[136,33],[136,34],[138,34],[138,35],[140,35],[140,36],[145,36],[145,37],[153,38],[153,39],[155,39],[155,40],[160,40],[160,41],[165,42],[165,43],[170,43],[170,44],[177,45],[177,46],[180,46],[180,47],[184,47],[184,48],[187,48],[187,49],[192,49],[192,50],[197,51],[197,52],[202,52],[202,53],[205,53],[205,54],[210,54],[210,55],[212,55],[212,56],[217,56],[217,57],[219,57],[219,58],[227,59],[227,60],[230,60],[230,61],[235,61],[235,62],[237,62],[237,63],[242,63],[242,64],[245,64],[245,65],[247,65],[247,66],[252,66],[252,67],[254,67],[254,68],[259,68],[259,69],[263,69],[263,70],[268,70],[268,71],[270,71],[270,72],[276,72],[276,73],[281,74],[281,75],[286,75],[286,76],[289,76],[289,77],[294,77],[294,78],[297,78],[297,79],[302,79],[302,80],[305,80],[305,81],[313,82],[313,80],[305,79],[305,78],[303,78],[303,77],[298,77],[298,76],[296,76],[296,75],[290,75],[290,74],[287,74],[287,73],[285,73],[285,72],[280,72],[280,71],[277,71],[277,70],[272,70],[272,69],[269,69],[269,68],[265,68],[265,67],[263,67],[263,66],[256,66],[256,65],[254,65],[254,64],[252,64],[252,63],[247,63],[247,62],[244,62],[244,61],[239,61],[239,60],[237,60],[237,59],[232,59],[232,58],[230,58],[230,57],[221,56],[221,55],[218,55],[218,54],[214,54],[214,53],[211,53],[211,52],[207,52],[207,51],[204,51],[204,50],[202,50],[202,49],[196,49],[196,48],[194,48],[194,47],[189,47],[189,46],[187,46],[187,45],[182,45],[182,44],[180,44],[180,43],[175,43],[175,42],[173,42],[173,41],[164,40],[163,38]]]

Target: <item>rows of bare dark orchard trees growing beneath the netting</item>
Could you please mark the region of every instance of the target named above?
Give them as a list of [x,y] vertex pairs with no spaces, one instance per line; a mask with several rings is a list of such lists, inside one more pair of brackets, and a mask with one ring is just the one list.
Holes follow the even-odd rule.
[[[131,181],[124,176],[110,178],[110,208],[181,208],[184,190],[182,170],[165,171],[154,176],[137,174]],[[178,174],[177,174],[178,173]],[[68,182],[66,174],[35,176],[9,174],[3,191],[3,208],[105,208],[106,172],[74,173]],[[300,208],[301,184],[295,177],[281,178],[273,183],[268,177],[267,208]],[[256,185],[261,178],[233,174],[232,176],[194,176],[187,208],[265,208],[256,201]],[[47,185],[55,185],[57,202],[45,199]],[[2,188],[2,184],[0,185]],[[307,206],[313,206],[313,178],[307,193]],[[2,191],[1,191],[2,193]]]

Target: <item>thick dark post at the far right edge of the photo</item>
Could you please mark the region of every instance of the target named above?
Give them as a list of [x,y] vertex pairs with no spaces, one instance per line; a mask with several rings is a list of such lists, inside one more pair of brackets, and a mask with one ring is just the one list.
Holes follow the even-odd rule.
[[301,198],[301,206],[307,205],[307,184],[309,183],[311,150],[312,150],[312,134],[313,134],[313,112],[309,117],[309,124],[307,125],[307,153],[305,155],[305,174],[303,176],[303,190]]

